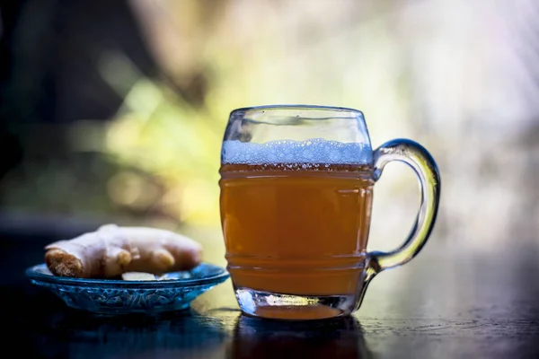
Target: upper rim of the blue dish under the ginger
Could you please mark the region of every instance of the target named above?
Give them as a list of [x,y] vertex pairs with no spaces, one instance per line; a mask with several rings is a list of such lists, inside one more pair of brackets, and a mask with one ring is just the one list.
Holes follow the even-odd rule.
[[[218,282],[224,282],[230,274],[224,267],[217,266],[215,264],[202,262],[199,266],[190,269],[190,271],[205,266],[216,270],[215,275],[201,276],[199,278],[177,278],[166,280],[152,280],[152,281],[128,281],[122,279],[91,279],[91,278],[72,278],[66,276],[54,276],[52,274],[45,274],[40,272],[39,269],[48,269],[45,263],[41,263],[32,267],[28,267],[25,270],[26,276],[32,281],[46,282],[56,285],[72,285],[72,286],[107,286],[107,287],[122,287],[122,288],[136,288],[136,289],[151,289],[151,288],[171,288],[171,287],[191,287],[199,285],[208,285]],[[189,271],[176,271],[189,272]]]

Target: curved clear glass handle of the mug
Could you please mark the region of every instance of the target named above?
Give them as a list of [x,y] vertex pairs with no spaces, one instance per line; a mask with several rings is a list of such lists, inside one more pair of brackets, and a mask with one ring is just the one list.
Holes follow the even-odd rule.
[[370,280],[384,269],[402,266],[414,258],[429,240],[436,222],[441,183],[437,164],[430,153],[422,145],[408,139],[399,138],[382,144],[374,152],[375,181],[382,175],[384,166],[392,161],[408,164],[420,180],[420,210],[408,238],[400,248],[390,252],[367,253],[365,283],[356,309],[361,305]]

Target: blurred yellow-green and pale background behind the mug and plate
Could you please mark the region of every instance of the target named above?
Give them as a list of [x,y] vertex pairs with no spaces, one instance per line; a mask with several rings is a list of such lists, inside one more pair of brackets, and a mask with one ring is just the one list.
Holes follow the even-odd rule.
[[[488,252],[517,231],[537,245],[533,1],[26,0],[1,13],[4,227],[144,224],[220,242],[229,112],[304,103],[363,110],[375,147],[429,149],[436,241]],[[392,164],[369,245],[400,243],[417,206],[413,174]]]

